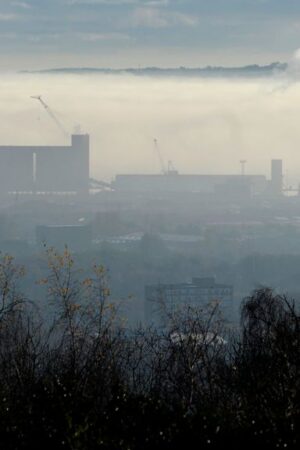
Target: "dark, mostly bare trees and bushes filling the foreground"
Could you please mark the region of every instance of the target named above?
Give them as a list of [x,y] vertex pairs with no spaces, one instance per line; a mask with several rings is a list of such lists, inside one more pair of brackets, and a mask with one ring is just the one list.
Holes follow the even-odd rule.
[[105,270],[81,279],[67,249],[48,250],[49,313],[0,262],[0,446],[10,449],[290,448],[299,445],[299,313],[255,291],[241,328],[217,307],[185,308],[168,329],[129,332]]

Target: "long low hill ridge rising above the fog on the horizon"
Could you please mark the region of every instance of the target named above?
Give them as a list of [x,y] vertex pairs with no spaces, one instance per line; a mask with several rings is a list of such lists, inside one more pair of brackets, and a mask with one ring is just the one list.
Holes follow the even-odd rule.
[[143,67],[143,68],[97,68],[97,67],[62,67],[38,71],[23,71],[23,73],[46,73],[46,74],[129,74],[138,76],[191,76],[191,77],[257,77],[271,76],[276,72],[283,72],[287,69],[286,63],[274,62],[272,64],[260,66],[257,64],[242,67],[222,67],[207,66],[199,68],[177,67]]

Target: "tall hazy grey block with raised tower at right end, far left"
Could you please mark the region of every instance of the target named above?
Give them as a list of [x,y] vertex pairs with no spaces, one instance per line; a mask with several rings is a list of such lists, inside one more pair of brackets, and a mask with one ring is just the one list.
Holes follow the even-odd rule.
[[0,192],[88,193],[89,135],[70,146],[0,146]]

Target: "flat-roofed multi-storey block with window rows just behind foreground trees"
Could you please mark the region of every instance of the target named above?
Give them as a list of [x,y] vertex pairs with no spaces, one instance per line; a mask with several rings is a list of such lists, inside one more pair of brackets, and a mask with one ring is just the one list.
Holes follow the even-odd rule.
[[163,325],[168,313],[185,305],[206,308],[218,302],[224,317],[233,313],[233,286],[218,284],[214,277],[193,278],[191,283],[155,284],[145,287],[145,319],[149,325]]

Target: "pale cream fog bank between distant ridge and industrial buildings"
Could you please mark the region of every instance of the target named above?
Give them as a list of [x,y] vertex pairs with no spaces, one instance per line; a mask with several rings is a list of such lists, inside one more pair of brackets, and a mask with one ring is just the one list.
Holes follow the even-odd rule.
[[269,176],[269,160],[282,158],[285,182],[296,183],[297,74],[292,65],[285,77],[265,80],[2,74],[0,143],[68,143],[30,98],[42,94],[65,128],[80,124],[91,134],[94,177],[159,173],[156,138],[165,162],[172,160],[180,173],[240,173],[246,159],[246,173]]

